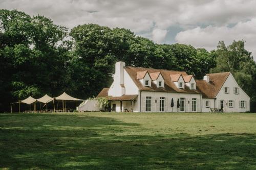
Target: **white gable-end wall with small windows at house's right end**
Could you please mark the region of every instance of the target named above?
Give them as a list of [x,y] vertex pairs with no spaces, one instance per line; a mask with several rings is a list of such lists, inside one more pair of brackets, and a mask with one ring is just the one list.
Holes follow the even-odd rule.
[[[224,87],[229,87],[229,93],[224,93]],[[234,94],[233,88],[238,87],[239,88],[239,94]],[[216,108],[220,108],[220,101],[224,101],[224,112],[246,112],[250,111],[250,99],[249,96],[243,91],[241,87],[237,84],[236,80],[230,74],[226,80],[226,82],[223,84],[222,88],[220,89],[219,93],[217,94],[217,100],[216,100]],[[233,100],[234,101],[234,107],[228,107],[228,101]],[[246,108],[240,108],[239,107],[239,101],[246,101]]]

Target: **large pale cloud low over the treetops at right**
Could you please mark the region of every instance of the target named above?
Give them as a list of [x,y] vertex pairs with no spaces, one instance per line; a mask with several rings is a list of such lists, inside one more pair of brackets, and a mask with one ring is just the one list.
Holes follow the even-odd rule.
[[226,45],[233,40],[245,40],[246,49],[256,54],[256,18],[245,22],[238,22],[233,27],[208,26],[206,28],[194,28],[179,32],[175,37],[176,42],[191,44],[195,47],[204,47],[206,50],[214,50],[218,41],[223,40]]

